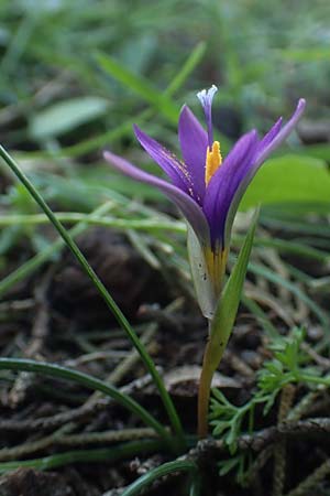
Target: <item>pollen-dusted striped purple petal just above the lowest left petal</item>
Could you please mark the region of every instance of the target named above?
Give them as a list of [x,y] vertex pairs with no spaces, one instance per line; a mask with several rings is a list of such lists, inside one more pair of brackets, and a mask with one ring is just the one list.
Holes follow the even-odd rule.
[[156,140],[145,134],[134,125],[134,132],[146,153],[163,169],[172,180],[173,184],[184,192],[194,193],[193,180],[186,165],[180,162],[170,151],[160,144]]

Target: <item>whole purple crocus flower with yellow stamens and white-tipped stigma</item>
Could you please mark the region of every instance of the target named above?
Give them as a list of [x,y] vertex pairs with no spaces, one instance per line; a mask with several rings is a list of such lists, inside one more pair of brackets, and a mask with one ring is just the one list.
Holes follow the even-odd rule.
[[145,134],[134,132],[150,157],[163,169],[169,182],[138,169],[109,151],[105,159],[130,177],[151,184],[165,193],[188,223],[188,249],[197,298],[205,316],[212,317],[221,293],[233,219],[239,203],[267,157],[287,138],[300,118],[305,100],[288,122],[282,117],[260,139],[252,130],[222,159],[219,141],[213,141],[212,99],[217,87],[197,94],[204,108],[206,130],[185,105],[178,121],[183,160]]

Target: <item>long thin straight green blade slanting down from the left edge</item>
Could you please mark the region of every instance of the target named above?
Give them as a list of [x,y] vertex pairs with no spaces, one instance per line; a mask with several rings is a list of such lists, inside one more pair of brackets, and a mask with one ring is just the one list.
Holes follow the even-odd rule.
[[40,207],[44,211],[51,223],[54,225],[54,227],[57,229],[75,258],[80,263],[82,270],[89,277],[91,282],[95,284],[97,290],[99,291],[100,295],[105,300],[108,308],[113,313],[114,317],[117,319],[118,323],[122,326],[122,328],[127,332],[131,343],[133,346],[135,346],[136,351],[139,352],[143,363],[145,364],[147,370],[150,371],[155,386],[157,387],[161,398],[163,400],[164,407],[167,411],[169,421],[172,423],[173,430],[176,433],[180,448],[185,445],[184,441],[184,431],[183,427],[179,420],[179,417],[176,412],[176,409],[174,407],[174,403],[165,388],[165,385],[155,367],[155,364],[153,363],[152,358],[150,357],[146,348],[143,346],[136,334],[134,333],[133,328],[131,327],[129,321],[125,319],[110,293],[107,291],[105,284],[100,281],[96,272],[92,270],[92,268],[89,266],[88,261],[79,250],[76,242],[72,239],[70,235],[67,233],[67,230],[63,227],[61,222],[56,218],[56,216],[53,214],[52,209],[48,207],[42,195],[37,192],[37,190],[33,186],[31,181],[26,177],[26,175],[21,171],[20,166],[15,163],[15,161],[10,157],[10,154],[4,150],[3,147],[0,145],[0,157],[4,160],[4,162],[9,165],[9,168],[12,170],[12,172],[16,175],[16,177],[24,184],[31,196],[35,200],[35,202],[40,205]]

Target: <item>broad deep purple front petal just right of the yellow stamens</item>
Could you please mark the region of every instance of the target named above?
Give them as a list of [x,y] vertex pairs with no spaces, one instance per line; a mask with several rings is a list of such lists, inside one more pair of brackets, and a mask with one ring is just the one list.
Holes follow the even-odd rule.
[[257,144],[255,130],[244,134],[213,174],[207,187],[204,212],[210,226],[213,248],[218,244],[222,249],[226,247],[224,227],[228,211],[246,171],[253,163]]

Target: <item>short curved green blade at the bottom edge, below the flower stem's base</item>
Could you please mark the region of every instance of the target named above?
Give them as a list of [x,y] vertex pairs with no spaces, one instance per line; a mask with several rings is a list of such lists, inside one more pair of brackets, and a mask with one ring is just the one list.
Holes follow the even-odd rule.
[[154,481],[164,475],[172,474],[173,472],[197,472],[198,466],[194,462],[185,460],[176,460],[174,462],[164,463],[161,466],[147,472],[147,474],[142,475],[133,484],[130,485],[121,496],[135,496],[141,493],[146,486],[150,486]]

